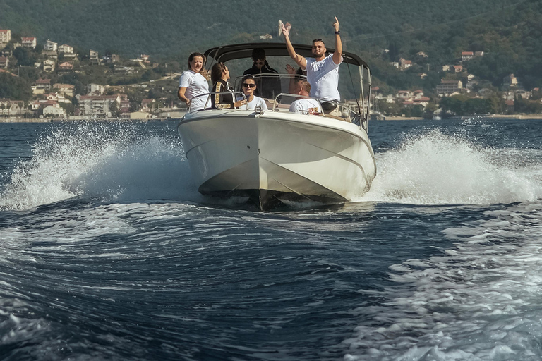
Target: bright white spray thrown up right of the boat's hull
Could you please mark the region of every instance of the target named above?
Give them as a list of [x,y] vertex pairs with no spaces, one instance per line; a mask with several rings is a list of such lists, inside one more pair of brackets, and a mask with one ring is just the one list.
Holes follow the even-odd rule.
[[375,154],[378,175],[356,201],[498,204],[542,197],[539,149],[480,147],[430,130]]

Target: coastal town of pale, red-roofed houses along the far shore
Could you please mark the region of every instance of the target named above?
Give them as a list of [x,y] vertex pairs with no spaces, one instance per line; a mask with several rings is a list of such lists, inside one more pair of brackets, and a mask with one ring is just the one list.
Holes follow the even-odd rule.
[[[262,39],[272,36],[266,34]],[[483,51],[462,51],[457,63],[443,64],[440,84],[430,92],[385,92],[373,85],[371,104],[364,106],[370,106],[372,116],[381,119],[447,118],[465,112],[506,116],[542,113],[538,87],[524,89],[514,74],[495,87],[469,73],[469,61],[481,56]],[[401,58],[390,66],[399,72],[426,68],[427,72],[416,73],[424,79],[430,70],[427,59],[420,51],[414,59]],[[0,78],[7,82],[11,77],[13,86],[25,88],[10,96],[0,92],[0,121],[180,118],[186,107],[176,98],[176,85],[183,70],[179,63],[158,63],[147,54],[135,59],[94,50],[81,54],[70,44],[51,39],[40,44],[37,37],[12,37],[11,30],[0,30]],[[16,78],[20,81],[15,82]],[[24,95],[16,99],[13,94]],[[346,101],[355,103],[356,99]]]

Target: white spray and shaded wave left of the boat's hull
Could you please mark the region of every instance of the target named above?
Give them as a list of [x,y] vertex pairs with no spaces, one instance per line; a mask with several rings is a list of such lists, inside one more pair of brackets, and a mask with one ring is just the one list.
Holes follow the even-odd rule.
[[72,197],[199,200],[179,140],[143,134],[128,123],[74,123],[52,130],[33,145],[31,159],[14,169],[1,190],[0,209],[30,209]]

